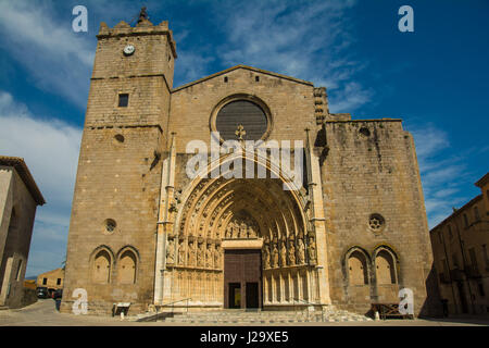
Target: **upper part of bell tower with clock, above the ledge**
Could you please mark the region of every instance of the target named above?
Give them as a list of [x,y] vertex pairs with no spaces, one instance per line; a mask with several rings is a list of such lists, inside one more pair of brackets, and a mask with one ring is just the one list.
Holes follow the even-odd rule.
[[[86,125],[159,125],[168,119],[176,45],[168,23],[100,25]],[[166,129],[164,129],[166,130]]]

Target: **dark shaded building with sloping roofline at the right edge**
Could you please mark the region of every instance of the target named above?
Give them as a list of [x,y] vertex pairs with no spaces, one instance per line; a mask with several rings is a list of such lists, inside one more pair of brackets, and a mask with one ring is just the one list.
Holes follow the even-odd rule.
[[489,173],[480,195],[430,232],[439,297],[446,314],[489,315]]

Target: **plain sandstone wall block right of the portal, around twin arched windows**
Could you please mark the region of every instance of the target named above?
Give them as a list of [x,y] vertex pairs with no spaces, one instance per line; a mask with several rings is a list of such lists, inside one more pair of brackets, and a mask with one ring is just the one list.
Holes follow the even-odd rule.
[[[399,120],[326,122],[325,130],[329,151],[322,178],[333,302],[366,312],[371,302],[398,302],[398,289],[406,287],[418,314],[431,253],[411,134]],[[374,213],[385,219],[377,232],[369,227]],[[366,254],[367,285],[348,284],[344,258],[353,247]],[[396,258],[397,285],[377,284],[379,247]]]

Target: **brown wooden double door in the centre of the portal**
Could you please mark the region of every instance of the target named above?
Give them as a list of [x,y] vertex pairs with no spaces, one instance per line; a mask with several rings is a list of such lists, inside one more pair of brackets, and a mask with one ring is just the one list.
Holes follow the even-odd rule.
[[262,308],[262,294],[261,250],[225,250],[224,308]]

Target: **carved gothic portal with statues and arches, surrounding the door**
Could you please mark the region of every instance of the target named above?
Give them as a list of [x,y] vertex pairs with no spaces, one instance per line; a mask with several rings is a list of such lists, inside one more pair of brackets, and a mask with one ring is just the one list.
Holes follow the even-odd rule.
[[[168,235],[175,247],[166,254],[173,294],[222,306],[226,250],[259,249],[261,304],[316,300],[316,245],[304,191],[284,190],[284,177],[272,178],[272,169],[266,170],[267,178],[196,179],[183,194]],[[203,274],[209,276],[198,285]]]

